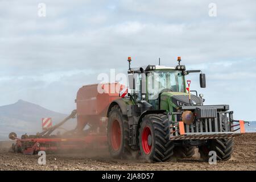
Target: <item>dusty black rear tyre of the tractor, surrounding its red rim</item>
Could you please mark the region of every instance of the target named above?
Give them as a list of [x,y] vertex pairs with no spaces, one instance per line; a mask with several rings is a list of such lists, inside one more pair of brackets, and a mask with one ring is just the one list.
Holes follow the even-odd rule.
[[[113,124],[119,124],[121,130],[121,138],[119,148],[117,150],[116,146],[113,145]],[[122,111],[118,105],[112,107],[109,113],[109,120],[108,120],[108,146],[110,155],[113,158],[126,158],[131,155],[131,147],[129,146],[129,125],[127,121],[127,117],[122,115]]]

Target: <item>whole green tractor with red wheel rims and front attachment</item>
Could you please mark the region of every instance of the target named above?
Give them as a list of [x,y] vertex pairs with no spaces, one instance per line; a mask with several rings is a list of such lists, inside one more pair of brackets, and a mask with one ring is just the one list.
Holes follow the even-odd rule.
[[113,158],[137,151],[148,162],[165,162],[174,154],[189,158],[198,147],[202,159],[208,160],[210,151],[216,152],[217,160],[230,159],[233,138],[245,132],[244,122],[233,119],[229,105],[204,105],[202,94],[191,94],[185,76],[200,73],[200,86],[205,88],[204,73],[186,71],[180,57],[176,67],[131,68],[130,57],[128,61],[130,93],[113,101],[107,114]]

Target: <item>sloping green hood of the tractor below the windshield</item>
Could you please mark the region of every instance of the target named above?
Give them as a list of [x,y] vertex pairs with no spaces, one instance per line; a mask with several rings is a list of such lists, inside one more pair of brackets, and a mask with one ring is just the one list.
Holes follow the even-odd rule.
[[[189,96],[188,93],[183,92],[164,92],[161,94],[161,97],[170,97],[172,103],[176,106],[185,106],[189,105]],[[191,94],[191,104],[192,105],[201,105],[203,100],[200,97],[197,97]]]

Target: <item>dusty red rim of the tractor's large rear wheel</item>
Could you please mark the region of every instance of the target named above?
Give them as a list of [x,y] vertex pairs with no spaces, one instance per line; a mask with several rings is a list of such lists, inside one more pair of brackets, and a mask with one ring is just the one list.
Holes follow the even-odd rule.
[[115,151],[117,151],[121,145],[121,127],[117,120],[112,124],[111,144]]

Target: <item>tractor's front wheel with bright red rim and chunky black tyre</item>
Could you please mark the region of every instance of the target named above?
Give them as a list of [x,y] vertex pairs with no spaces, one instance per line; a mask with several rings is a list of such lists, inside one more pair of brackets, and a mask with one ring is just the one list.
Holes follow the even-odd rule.
[[[169,140],[169,127],[167,115],[148,114],[142,118],[139,128],[139,148],[142,159],[147,162],[165,162],[171,158],[174,154],[174,143]],[[148,132],[150,134],[145,134]]]

